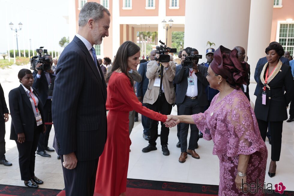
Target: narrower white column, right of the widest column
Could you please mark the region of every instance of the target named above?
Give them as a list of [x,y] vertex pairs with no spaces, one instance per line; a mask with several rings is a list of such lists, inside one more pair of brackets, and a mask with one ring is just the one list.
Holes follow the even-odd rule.
[[[260,14],[262,13],[262,14]],[[271,40],[273,2],[268,0],[251,1],[250,25],[248,35],[248,63],[250,64],[250,83],[254,82],[254,71],[258,60],[265,56],[265,48]]]

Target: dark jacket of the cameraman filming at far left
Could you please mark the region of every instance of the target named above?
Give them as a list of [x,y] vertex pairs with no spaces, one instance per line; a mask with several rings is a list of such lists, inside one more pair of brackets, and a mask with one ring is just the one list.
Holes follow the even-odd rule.
[[[45,104],[48,98],[48,90],[49,90],[48,82],[47,82],[44,71],[42,71],[40,78],[37,77],[37,74],[38,72],[36,71],[33,72],[33,77],[34,77],[33,87],[37,89],[42,103]],[[54,78],[55,76],[50,73],[49,75],[50,75],[51,83],[52,83],[52,78]]]

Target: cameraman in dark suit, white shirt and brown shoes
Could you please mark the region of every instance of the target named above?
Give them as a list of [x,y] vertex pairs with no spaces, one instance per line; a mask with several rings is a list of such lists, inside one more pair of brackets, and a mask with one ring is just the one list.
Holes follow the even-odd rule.
[[[176,103],[179,104],[180,115],[200,113],[203,111],[203,107],[208,105],[205,93],[205,87],[209,84],[206,79],[208,68],[199,65],[199,59],[202,59],[202,55],[199,55],[198,50],[195,48],[187,47],[182,51],[182,63],[177,69],[174,80],[176,84],[179,84]],[[190,124],[190,128],[190,140],[187,148],[189,124],[180,124],[180,163],[186,161],[187,154],[196,159],[200,158],[195,152],[195,149],[198,148],[199,129],[195,124]]]

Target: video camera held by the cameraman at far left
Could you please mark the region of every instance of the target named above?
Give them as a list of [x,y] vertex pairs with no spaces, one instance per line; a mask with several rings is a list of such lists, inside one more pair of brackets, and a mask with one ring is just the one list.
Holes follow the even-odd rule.
[[[30,59],[31,70],[50,70],[51,69],[52,59],[48,57],[47,58],[42,57],[43,53],[47,53],[47,50],[43,50],[42,48],[44,47],[37,48],[36,52],[39,53],[39,55],[33,56],[32,59]],[[36,68],[36,65],[38,63],[42,63],[42,65]]]

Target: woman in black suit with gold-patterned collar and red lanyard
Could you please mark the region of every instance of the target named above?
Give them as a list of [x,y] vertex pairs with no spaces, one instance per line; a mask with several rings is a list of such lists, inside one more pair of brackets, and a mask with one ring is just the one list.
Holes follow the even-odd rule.
[[268,62],[258,69],[259,92],[254,113],[264,141],[268,124],[271,127],[271,163],[268,175],[273,177],[277,168],[276,161],[280,160],[283,121],[288,117],[286,108],[294,95],[294,83],[290,66],[279,60],[284,55],[283,47],[272,44],[265,49],[265,53]]

